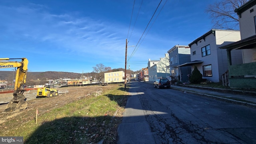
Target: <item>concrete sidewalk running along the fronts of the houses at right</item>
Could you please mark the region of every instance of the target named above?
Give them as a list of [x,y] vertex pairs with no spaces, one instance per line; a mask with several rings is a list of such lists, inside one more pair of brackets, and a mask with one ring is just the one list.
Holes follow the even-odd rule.
[[[152,82],[146,82],[153,84]],[[231,102],[250,105],[256,107],[256,92],[242,91],[242,90],[230,90],[223,88],[209,88],[199,86],[188,85],[171,85],[172,89],[182,90],[184,92],[190,92],[194,94],[210,96],[214,98],[220,98]]]

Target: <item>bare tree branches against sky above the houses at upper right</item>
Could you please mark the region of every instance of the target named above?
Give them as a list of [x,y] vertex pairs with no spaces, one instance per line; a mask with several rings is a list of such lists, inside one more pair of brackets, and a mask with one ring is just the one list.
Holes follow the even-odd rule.
[[220,0],[208,5],[205,12],[210,14],[214,28],[239,30],[239,18],[234,10],[248,0]]

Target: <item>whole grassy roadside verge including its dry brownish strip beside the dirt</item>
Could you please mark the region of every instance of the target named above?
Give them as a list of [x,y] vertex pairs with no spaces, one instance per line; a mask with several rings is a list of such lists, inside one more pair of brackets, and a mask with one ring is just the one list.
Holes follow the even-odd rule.
[[0,135],[23,136],[25,144],[116,143],[128,99],[123,87],[73,88],[66,96],[31,100],[26,110],[3,114]]

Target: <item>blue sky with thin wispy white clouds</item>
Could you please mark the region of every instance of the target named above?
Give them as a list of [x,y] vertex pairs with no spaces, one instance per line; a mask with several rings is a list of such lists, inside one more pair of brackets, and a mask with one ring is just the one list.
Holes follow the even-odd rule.
[[213,26],[204,10],[214,1],[160,1],[0,0],[0,58],[27,58],[29,72],[124,68],[127,38],[127,69],[136,71]]

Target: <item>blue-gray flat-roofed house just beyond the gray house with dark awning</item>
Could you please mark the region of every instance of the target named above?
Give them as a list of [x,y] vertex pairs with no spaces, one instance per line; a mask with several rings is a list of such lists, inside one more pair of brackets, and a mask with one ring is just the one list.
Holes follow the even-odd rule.
[[190,62],[190,47],[175,45],[168,50],[170,58],[170,66],[167,66],[170,70],[170,80],[180,80],[182,82],[188,81],[188,74],[191,74],[191,66],[182,66],[186,62]]

